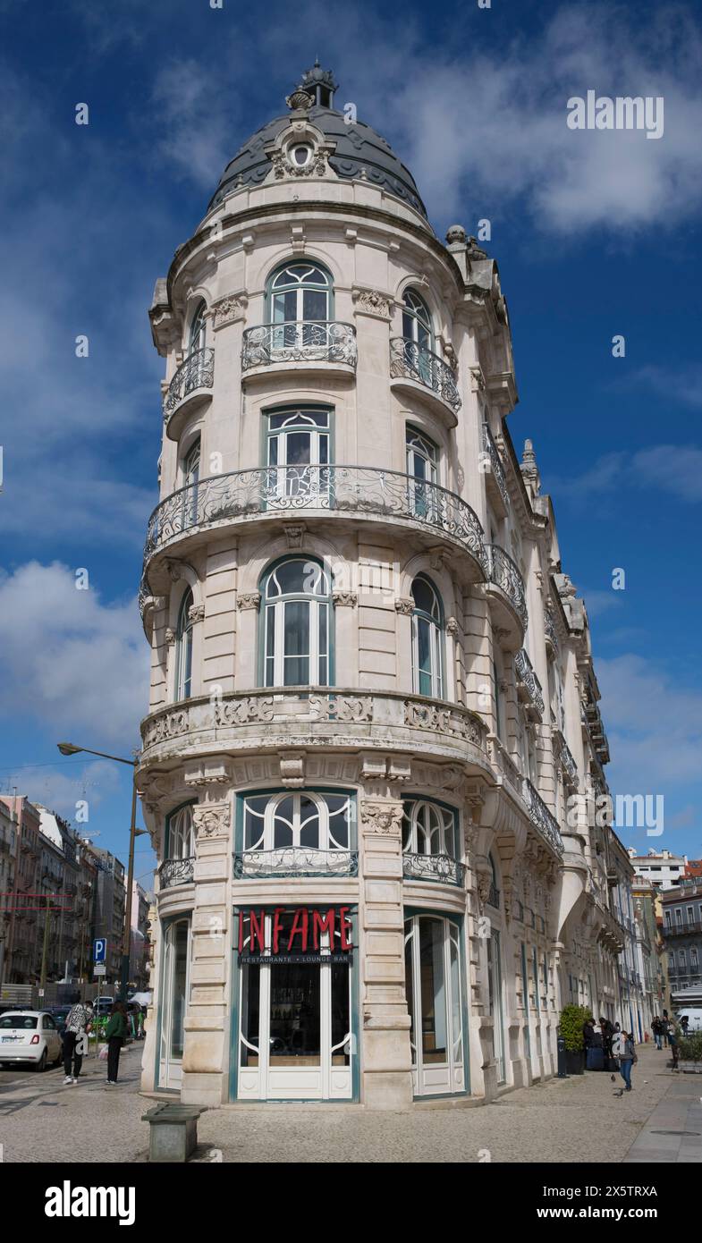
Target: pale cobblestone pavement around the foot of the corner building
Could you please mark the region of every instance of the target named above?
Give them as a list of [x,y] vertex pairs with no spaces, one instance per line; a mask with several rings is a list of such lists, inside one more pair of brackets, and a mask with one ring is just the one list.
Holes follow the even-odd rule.
[[[138,1094],[140,1048],[122,1055],[121,1084],[106,1088],[106,1064],[91,1058],[75,1086],[27,1075],[5,1089],[0,1078],[0,1142],[7,1162],[144,1161],[153,1100]],[[672,1075],[665,1054],[645,1045],[634,1091],[618,1076],[553,1079],[477,1108],[367,1112],[358,1106],[225,1106],[199,1122],[199,1158],[225,1162],[698,1162],[702,1131],[698,1076]],[[343,1121],[342,1121],[343,1114]],[[685,1125],[683,1125],[685,1124]],[[70,1141],[67,1145],[67,1135]]]

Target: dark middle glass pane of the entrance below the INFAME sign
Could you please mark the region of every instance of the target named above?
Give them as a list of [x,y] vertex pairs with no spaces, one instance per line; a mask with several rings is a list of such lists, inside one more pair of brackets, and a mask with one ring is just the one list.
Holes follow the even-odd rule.
[[[287,945],[282,936],[281,945]],[[319,967],[312,963],[291,962],[272,966],[270,972],[271,1069],[277,1066],[318,1066],[321,1057]]]

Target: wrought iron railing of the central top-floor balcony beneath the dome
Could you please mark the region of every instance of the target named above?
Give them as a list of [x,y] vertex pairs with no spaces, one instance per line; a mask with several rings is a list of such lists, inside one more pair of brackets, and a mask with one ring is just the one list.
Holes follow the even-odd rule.
[[355,328],[335,319],[291,319],[247,328],[241,346],[241,370],[273,363],[357,363]]

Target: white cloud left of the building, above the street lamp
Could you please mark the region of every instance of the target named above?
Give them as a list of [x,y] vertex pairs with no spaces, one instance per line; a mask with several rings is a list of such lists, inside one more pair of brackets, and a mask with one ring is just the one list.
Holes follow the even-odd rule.
[[73,571],[30,562],[0,577],[0,709],[57,741],[139,742],[149,655],[135,600],[103,605]]

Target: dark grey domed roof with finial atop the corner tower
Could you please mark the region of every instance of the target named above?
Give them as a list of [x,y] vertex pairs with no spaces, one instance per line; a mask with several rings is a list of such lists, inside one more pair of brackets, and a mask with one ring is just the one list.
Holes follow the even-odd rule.
[[[333,102],[334,88],[335,82],[330,71],[321,70],[316,63],[304,73],[297,93],[293,92],[289,97],[288,107],[298,107],[301,101],[304,103],[301,92],[307,92],[308,97],[317,99],[312,107],[304,108],[303,114],[322,131],[324,138],[335,144],[334,153],[329,157],[329,165],[337,177],[349,180],[363,178],[408,203],[426,218],[426,208],[415,180],[389,143],[365,122],[354,121],[348,124],[343,112],[327,106]],[[312,99],[308,98],[307,102]],[[293,116],[299,117],[301,112],[288,112],[285,117],[268,121],[240,148],[225,168],[207,211],[216,208],[236,186],[260,185],[267,178],[272,165],[263,148],[273,142],[281,131],[288,128]]]

